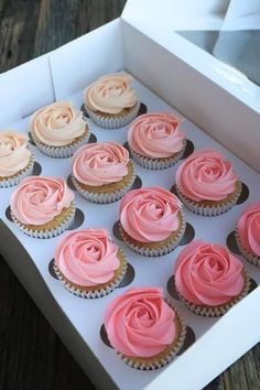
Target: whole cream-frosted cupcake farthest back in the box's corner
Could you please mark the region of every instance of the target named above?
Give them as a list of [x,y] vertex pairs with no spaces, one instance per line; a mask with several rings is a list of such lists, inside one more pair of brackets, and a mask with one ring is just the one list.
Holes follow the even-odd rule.
[[118,129],[137,117],[140,102],[130,87],[132,77],[113,73],[91,83],[84,91],[84,107],[100,128]]

